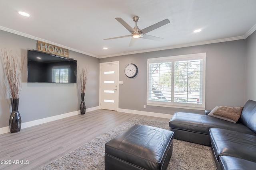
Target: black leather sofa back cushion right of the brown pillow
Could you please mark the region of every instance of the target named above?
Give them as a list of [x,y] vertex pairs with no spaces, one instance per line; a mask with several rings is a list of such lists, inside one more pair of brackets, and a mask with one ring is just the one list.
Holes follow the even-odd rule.
[[248,100],[240,117],[241,123],[256,133],[256,101]]

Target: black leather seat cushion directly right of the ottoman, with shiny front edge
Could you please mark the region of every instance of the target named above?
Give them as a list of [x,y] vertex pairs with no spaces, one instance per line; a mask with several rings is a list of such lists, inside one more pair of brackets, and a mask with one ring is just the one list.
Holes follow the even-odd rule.
[[211,128],[209,132],[214,156],[219,163],[220,156],[224,155],[256,162],[256,135],[218,128]]

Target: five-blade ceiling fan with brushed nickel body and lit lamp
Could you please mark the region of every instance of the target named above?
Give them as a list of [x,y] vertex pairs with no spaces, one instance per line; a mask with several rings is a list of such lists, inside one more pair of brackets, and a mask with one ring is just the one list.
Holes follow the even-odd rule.
[[144,38],[144,39],[161,41],[163,38],[155,37],[155,36],[152,36],[152,35],[147,35],[146,33],[150,32],[150,31],[153,31],[154,29],[157,29],[159,27],[162,27],[163,25],[166,25],[167,23],[170,23],[170,21],[168,19],[165,19],[165,20],[162,20],[158,23],[155,23],[155,24],[153,24],[149,27],[146,27],[144,29],[139,29],[139,27],[137,26],[137,22],[140,20],[140,18],[138,16],[135,16],[132,19],[135,22],[135,27],[134,28],[130,27],[130,25],[128,25],[128,23],[126,23],[122,18],[116,18],[116,20],[118,22],[120,22],[132,34],[124,35],[124,36],[120,36],[120,37],[107,38],[107,39],[104,39],[104,40],[117,39],[117,38],[123,38],[123,37],[132,37],[131,42],[129,44],[129,47],[131,47],[134,44],[134,40],[137,39],[137,38]]

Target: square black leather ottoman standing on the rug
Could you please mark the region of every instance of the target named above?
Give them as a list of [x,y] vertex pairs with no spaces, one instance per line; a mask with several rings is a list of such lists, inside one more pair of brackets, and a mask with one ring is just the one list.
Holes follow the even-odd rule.
[[134,125],[105,144],[105,170],[166,170],[174,132]]

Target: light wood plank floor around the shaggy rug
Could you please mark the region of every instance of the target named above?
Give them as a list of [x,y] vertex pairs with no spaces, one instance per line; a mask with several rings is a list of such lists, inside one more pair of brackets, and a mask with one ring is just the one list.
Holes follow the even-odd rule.
[[18,133],[2,134],[0,169],[38,169],[133,117],[166,123],[170,120],[99,109],[21,129]]

